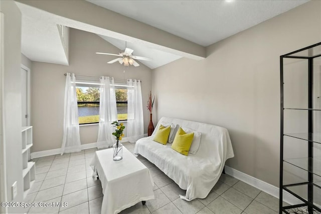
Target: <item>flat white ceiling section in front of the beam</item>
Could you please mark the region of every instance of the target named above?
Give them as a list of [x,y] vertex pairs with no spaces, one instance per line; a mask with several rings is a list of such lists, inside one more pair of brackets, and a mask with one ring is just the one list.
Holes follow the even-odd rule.
[[202,46],[209,46],[308,2],[87,1]]

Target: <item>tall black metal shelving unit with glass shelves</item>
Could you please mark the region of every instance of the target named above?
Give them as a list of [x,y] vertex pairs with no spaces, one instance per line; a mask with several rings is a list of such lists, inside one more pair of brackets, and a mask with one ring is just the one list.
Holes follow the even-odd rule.
[[[313,115],[316,111],[321,109],[313,108],[313,62],[316,58],[321,57],[321,43],[317,43],[306,48],[293,51],[291,53],[280,56],[280,98],[281,98],[281,118],[280,118],[280,195],[279,195],[279,213],[321,213],[321,161],[319,159],[313,158],[313,144],[321,144],[321,133],[315,132],[313,129]],[[293,60],[303,60],[307,61],[307,103],[304,108],[300,107],[284,107],[284,59],[293,59]],[[317,59],[319,60],[319,59]],[[304,81],[304,80],[302,80]],[[321,83],[320,83],[321,84]],[[319,98],[319,97],[318,97]],[[321,98],[320,98],[321,99]],[[305,111],[307,112],[307,133],[284,133],[284,113],[286,111]],[[307,153],[306,157],[302,158],[288,158],[284,159],[284,138],[287,140],[297,140],[299,139],[303,143],[307,144]],[[284,184],[283,172],[284,164],[289,164],[291,167],[294,167],[298,170],[302,170],[306,175],[306,181],[303,182],[290,182]],[[294,174],[294,172],[293,172]],[[317,177],[317,182],[315,180]],[[318,180],[320,178],[320,180]],[[295,180],[295,179],[293,179]],[[302,189],[305,193],[302,194]],[[294,197],[296,197],[301,202],[295,205],[283,206],[283,190],[287,191]],[[314,198],[316,196],[316,198]]]

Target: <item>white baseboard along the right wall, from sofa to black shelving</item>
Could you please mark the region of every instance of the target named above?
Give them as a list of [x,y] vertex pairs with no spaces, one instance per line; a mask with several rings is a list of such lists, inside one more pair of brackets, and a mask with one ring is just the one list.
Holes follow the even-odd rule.
[[[263,180],[252,177],[251,175],[245,174],[229,166],[225,166],[225,173],[243,181],[244,183],[254,186],[255,188],[258,188],[276,198],[279,198],[279,188],[272,184],[269,184]],[[301,200],[297,199],[296,197],[294,197],[293,195],[291,195],[285,190],[283,190],[283,201],[291,205],[302,203]]]

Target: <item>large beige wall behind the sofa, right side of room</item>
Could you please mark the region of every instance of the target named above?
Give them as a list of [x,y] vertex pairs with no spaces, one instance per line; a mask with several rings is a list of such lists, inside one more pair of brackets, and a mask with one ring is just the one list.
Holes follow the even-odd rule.
[[226,127],[227,165],[279,183],[279,56],[320,42],[321,2],[311,1],[152,72],[155,122],[162,116]]

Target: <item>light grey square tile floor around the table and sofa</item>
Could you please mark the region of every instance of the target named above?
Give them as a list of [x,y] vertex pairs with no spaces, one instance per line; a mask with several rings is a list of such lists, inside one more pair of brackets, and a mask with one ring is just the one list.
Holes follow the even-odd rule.
[[[129,151],[134,144],[123,143]],[[31,207],[28,213],[100,213],[101,183],[93,178],[89,166],[97,149],[36,158],[36,181],[26,202],[68,202],[67,207]],[[178,185],[145,158],[137,157],[149,168],[154,180],[155,199],[140,202],[121,213],[277,213],[278,199],[229,175],[220,180],[204,199],[185,201]]]

